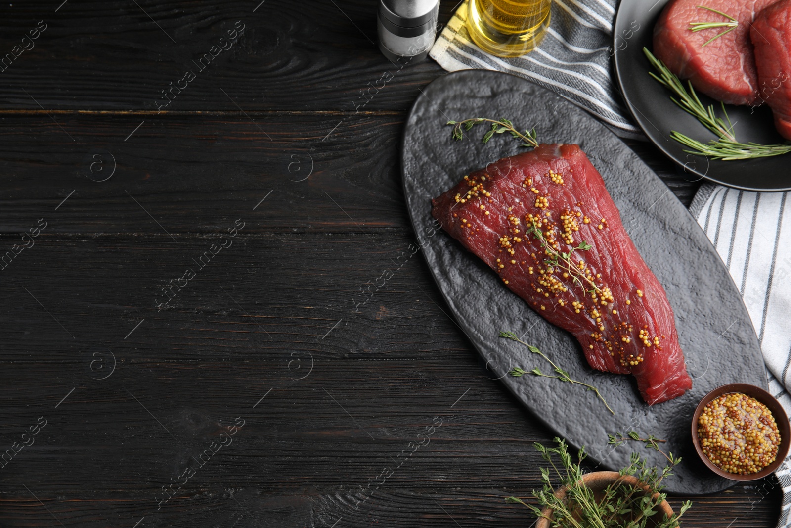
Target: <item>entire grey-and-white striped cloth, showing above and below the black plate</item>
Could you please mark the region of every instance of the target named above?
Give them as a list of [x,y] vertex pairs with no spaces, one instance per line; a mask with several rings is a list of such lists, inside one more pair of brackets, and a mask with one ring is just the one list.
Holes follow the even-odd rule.
[[[551,27],[539,47],[528,55],[501,59],[472,43],[465,27],[465,0],[442,31],[430,56],[448,71],[472,68],[520,75],[585,108],[616,134],[639,137],[640,130],[630,120],[615,89],[617,82],[611,61],[615,2],[553,0]],[[690,211],[729,268],[744,298],[761,343],[770,391],[791,415],[791,200],[786,199],[788,194],[704,184],[695,195]],[[783,492],[778,528],[791,528],[791,457],[785,459],[775,475]]]

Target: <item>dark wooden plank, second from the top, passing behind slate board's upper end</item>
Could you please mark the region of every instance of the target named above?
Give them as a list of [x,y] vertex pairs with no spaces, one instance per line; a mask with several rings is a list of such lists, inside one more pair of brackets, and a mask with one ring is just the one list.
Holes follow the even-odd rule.
[[[408,226],[400,115],[53,117],[57,123],[49,116],[4,120],[0,233],[25,233],[39,218],[47,234],[166,237],[221,232],[240,217],[256,218],[246,228],[255,232],[364,234]],[[631,145],[691,201],[697,184],[680,179],[653,146]]]

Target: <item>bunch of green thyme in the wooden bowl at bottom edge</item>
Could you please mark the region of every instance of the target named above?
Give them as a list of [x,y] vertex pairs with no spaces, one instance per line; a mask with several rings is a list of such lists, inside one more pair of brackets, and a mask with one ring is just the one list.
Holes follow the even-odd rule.
[[[529,507],[539,518],[549,519],[552,526],[558,528],[645,528],[649,520],[657,515],[658,507],[666,495],[662,492],[664,478],[672,475],[672,469],[681,462],[681,458],[673,458],[664,469],[646,464],[645,459],[633,453],[630,464],[621,469],[621,476],[630,475],[638,479],[638,484],[627,484],[622,479],[610,484],[604,490],[604,496],[596,500],[591,488],[582,482],[581,462],[587,454],[583,447],[577,454],[577,463],[573,462],[568,446],[559,438],[554,442],[557,447],[550,448],[539,443],[533,444],[541,453],[541,458],[549,462],[550,468],[541,468],[543,488],[534,490],[533,496],[538,500],[539,507],[524,503],[517,497],[508,497],[505,502],[520,503]],[[555,462],[560,459],[560,463]],[[554,471],[553,471],[554,470]],[[554,476],[552,475],[554,473]],[[558,491],[552,486],[552,478],[557,477],[566,494],[562,498],[555,496]],[[665,515],[661,521],[655,522],[657,528],[676,528],[679,519],[692,506],[691,501],[683,503],[679,513]],[[552,509],[551,519],[542,513],[542,508]]]

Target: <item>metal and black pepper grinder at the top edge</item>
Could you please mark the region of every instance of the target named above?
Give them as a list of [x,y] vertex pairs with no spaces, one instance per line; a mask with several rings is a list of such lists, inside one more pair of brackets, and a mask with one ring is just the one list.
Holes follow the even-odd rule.
[[379,0],[379,49],[400,66],[429,55],[437,36],[439,0]]

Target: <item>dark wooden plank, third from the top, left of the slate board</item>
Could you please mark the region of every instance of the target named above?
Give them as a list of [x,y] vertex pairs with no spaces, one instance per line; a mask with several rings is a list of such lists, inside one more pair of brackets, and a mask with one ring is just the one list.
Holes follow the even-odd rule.
[[[244,219],[233,240],[41,234],[2,270],[2,357],[68,361],[105,344],[136,357],[288,363],[292,351],[391,359],[467,347],[411,231],[273,236]],[[215,244],[230,245],[213,254]]]

